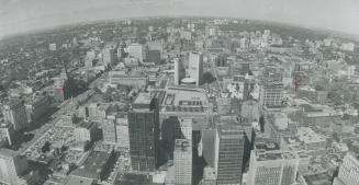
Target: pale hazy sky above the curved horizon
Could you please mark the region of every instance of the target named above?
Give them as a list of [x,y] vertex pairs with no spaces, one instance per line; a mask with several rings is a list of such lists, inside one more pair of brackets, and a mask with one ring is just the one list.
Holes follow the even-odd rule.
[[146,15],[269,20],[359,35],[359,0],[0,0],[0,38],[81,21]]

